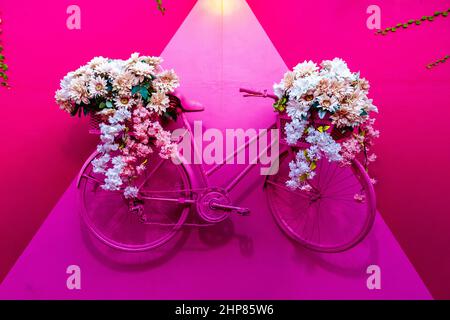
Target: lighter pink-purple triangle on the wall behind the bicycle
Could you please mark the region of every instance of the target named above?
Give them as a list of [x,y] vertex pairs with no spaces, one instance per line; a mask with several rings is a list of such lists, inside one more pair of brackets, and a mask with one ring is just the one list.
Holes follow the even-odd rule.
[[[231,0],[229,0],[231,1]],[[243,0],[229,15],[198,1],[163,52],[182,78],[186,96],[202,101],[205,127],[265,128],[270,102],[243,99],[240,86],[270,88],[287,69]],[[316,254],[290,242],[275,225],[253,172],[234,199],[249,217],[233,217],[233,235],[220,245],[181,233],[141,264],[120,264],[83,231],[72,184],[1,286],[2,298],[24,299],[429,299],[428,290],[380,215],[368,238],[342,254]],[[231,226],[231,225],[230,225]],[[209,232],[209,233],[208,233]],[[81,268],[81,289],[66,287],[66,268]],[[366,285],[369,265],[381,268],[381,289]]]

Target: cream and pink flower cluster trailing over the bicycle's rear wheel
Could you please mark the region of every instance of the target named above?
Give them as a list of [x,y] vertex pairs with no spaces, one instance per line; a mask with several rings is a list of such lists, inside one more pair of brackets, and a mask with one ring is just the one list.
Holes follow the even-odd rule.
[[177,152],[161,119],[176,117],[169,94],[179,81],[161,62],[138,53],[128,60],[95,57],[69,72],[56,91],[56,102],[71,115],[101,117],[100,156],[93,160],[93,170],[104,174],[103,189],[122,190],[127,198],[137,196],[133,181],[147,168],[154,150],[166,159]]

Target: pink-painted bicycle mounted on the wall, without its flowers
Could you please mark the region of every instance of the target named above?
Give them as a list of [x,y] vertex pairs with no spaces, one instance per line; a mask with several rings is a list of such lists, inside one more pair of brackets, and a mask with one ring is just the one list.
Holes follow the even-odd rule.
[[[246,96],[275,98],[266,92],[240,91]],[[203,108],[187,103],[182,97],[171,96],[170,100],[179,110],[175,125],[184,128],[192,138],[185,113]],[[98,124],[95,118],[92,120],[90,132],[97,133]],[[274,127],[283,128],[283,120],[279,116]],[[375,216],[375,193],[362,165],[356,160],[350,167],[320,161],[317,175],[311,181],[312,190],[294,191],[285,182],[295,148],[284,143],[283,135],[280,142],[279,170],[265,177],[264,186],[270,211],[280,228],[290,238],[315,251],[341,252],[358,244],[371,229]],[[99,154],[94,152],[83,165],[77,181],[82,218],[88,229],[108,246],[137,252],[167,243],[183,226],[210,226],[227,219],[231,213],[245,216],[250,210],[233,205],[229,193],[254,164],[247,165],[225,186],[211,186],[209,177],[250,143],[253,141],[247,141],[233,155],[225,157],[222,164],[208,170],[201,164],[187,165],[180,159],[177,165],[154,155],[148,159],[154,165],[139,178],[139,196],[134,200],[125,199],[123,192],[100,187],[102,177],[92,167]],[[356,201],[355,193],[364,195],[364,200]],[[192,211],[197,214],[188,220]]]

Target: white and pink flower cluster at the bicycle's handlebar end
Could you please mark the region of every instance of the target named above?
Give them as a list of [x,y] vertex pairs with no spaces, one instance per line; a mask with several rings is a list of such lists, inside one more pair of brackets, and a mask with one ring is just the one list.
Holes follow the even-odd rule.
[[289,164],[289,187],[311,189],[308,180],[322,157],[348,165],[362,153],[366,168],[376,159],[369,150],[379,132],[370,113],[378,110],[367,97],[368,90],[367,80],[339,58],[324,60],[320,66],[300,63],[274,85],[278,97],[274,108],[289,118],[286,143],[300,146]]

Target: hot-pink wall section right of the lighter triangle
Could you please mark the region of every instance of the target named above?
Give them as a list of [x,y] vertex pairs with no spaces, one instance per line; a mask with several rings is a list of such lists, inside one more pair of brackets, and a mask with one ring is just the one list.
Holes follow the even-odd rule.
[[248,3],[288,66],[340,56],[370,80],[380,109],[378,207],[433,295],[450,298],[450,61],[424,67],[450,54],[450,17],[385,37],[366,27],[371,4],[388,27],[446,10],[449,1]]

